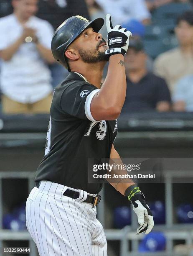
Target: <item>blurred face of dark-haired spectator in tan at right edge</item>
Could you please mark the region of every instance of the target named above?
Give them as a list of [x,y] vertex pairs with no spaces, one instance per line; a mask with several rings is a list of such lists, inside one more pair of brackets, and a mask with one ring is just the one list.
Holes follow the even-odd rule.
[[180,45],[193,43],[193,26],[185,20],[180,21],[178,26],[175,28],[175,34]]

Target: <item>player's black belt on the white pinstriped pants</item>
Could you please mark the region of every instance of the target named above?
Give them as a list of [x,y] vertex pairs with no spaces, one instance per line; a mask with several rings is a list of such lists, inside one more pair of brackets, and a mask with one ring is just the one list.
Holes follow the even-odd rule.
[[[41,183],[41,181],[35,182],[35,187],[39,188],[40,183]],[[66,197],[71,197],[73,199],[77,199],[77,198],[79,198],[80,193],[70,190],[70,189],[66,189],[66,191],[63,193],[63,195],[65,195]],[[95,197],[87,195],[86,199],[83,202],[88,202],[89,204],[92,204],[94,207],[97,204],[99,204],[100,200],[101,200],[101,196],[98,194]]]

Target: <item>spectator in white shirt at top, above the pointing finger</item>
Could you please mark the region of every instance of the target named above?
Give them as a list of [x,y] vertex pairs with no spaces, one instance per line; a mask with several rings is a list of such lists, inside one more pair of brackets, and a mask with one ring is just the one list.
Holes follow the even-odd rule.
[[104,13],[110,13],[113,24],[122,24],[130,19],[139,20],[144,25],[150,23],[151,15],[145,0],[96,0]]

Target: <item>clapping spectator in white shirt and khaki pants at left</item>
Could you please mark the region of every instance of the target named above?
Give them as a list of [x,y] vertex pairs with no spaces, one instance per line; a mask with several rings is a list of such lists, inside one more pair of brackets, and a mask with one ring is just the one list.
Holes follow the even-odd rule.
[[0,18],[3,112],[49,113],[53,28],[34,16],[38,0],[12,0],[12,5],[13,14]]

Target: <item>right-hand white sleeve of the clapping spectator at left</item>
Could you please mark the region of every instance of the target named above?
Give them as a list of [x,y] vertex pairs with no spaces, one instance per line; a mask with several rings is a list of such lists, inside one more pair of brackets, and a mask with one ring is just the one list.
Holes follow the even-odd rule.
[[48,21],[43,20],[40,29],[38,29],[37,36],[40,43],[47,49],[51,49],[53,33],[54,31],[51,24]]

